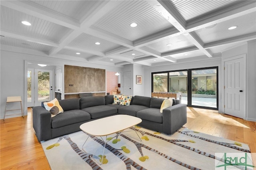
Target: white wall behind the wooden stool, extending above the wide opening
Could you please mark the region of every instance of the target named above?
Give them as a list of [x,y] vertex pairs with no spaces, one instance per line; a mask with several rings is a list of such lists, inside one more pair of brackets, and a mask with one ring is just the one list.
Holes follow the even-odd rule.
[[[12,51],[11,51],[12,50]],[[26,97],[24,96],[24,83],[25,83],[25,64],[24,61],[34,61],[40,63],[46,63],[51,65],[76,65],[81,67],[93,67],[106,69],[110,71],[122,71],[122,67],[106,66],[100,64],[88,63],[85,59],[80,58],[81,61],[72,61],[72,56],[66,57],[67,59],[58,59],[53,57],[48,57],[44,53],[27,54],[28,49],[18,49],[11,48],[3,50],[1,45],[0,57],[0,119],[4,118],[4,111],[6,105],[6,99],[8,96],[21,96],[23,101],[24,113],[27,115],[26,108]],[[22,51],[24,50],[24,51]],[[15,52],[13,52],[15,51]],[[29,51],[30,52],[30,51]],[[64,57],[65,58],[65,57]],[[69,59],[68,59],[69,58]],[[74,57],[76,60],[78,58]],[[83,61],[84,60],[84,61]],[[18,103],[12,103],[9,109],[17,109]],[[8,111],[8,115],[16,114],[19,111]],[[21,116],[21,115],[18,115]],[[9,118],[9,117],[7,117]]]

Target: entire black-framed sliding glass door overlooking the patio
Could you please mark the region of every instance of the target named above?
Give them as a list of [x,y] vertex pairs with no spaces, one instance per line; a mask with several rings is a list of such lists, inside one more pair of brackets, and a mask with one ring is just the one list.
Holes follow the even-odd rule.
[[182,93],[189,107],[218,110],[218,67],[152,73],[152,92]]

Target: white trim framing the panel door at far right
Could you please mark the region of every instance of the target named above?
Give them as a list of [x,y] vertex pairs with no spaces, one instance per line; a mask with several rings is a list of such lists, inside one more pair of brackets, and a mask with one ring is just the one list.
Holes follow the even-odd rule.
[[[223,93],[222,93],[222,101],[223,101],[223,105],[222,105],[222,107],[223,107],[223,111],[224,111],[224,113],[225,113],[225,108],[224,108],[224,104],[225,104],[225,89],[224,89],[224,85],[225,85],[225,71],[224,71],[224,67],[225,67],[225,62],[226,61],[230,61],[230,60],[234,60],[234,59],[239,59],[239,58],[242,58],[243,60],[244,60],[244,68],[246,68],[246,54],[241,54],[241,55],[237,55],[237,56],[234,56],[234,57],[229,57],[229,58],[227,58],[227,59],[223,59],[222,60],[222,75],[223,75],[223,78],[222,78],[222,88],[221,89],[223,89]],[[246,89],[246,82],[247,82],[247,77],[246,77],[246,75],[247,75],[247,72],[246,72],[246,70],[244,71],[244,77],[245,77],[245,81],[244,81],[244,119],[246,119],[246,117],[247,117],[247,112],[246,112],[246,103],[247,103],[247,95],[248,95],[248,92],[247,92],[247,89]]]

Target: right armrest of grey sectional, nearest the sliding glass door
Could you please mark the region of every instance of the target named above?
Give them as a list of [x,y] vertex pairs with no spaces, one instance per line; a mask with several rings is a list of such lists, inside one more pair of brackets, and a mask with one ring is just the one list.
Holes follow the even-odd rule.
[[163,110],[163,132],[173,134],[187,123],[187,105],[178,104]]

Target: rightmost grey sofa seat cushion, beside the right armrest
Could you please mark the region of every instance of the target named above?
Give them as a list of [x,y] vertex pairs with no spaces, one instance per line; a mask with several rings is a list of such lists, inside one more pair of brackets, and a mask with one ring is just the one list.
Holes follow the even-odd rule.
[[160,113],[160,110],[156,108],[148,108],[138,111],[136,117],[146,121],[163,123],[163,115]]

